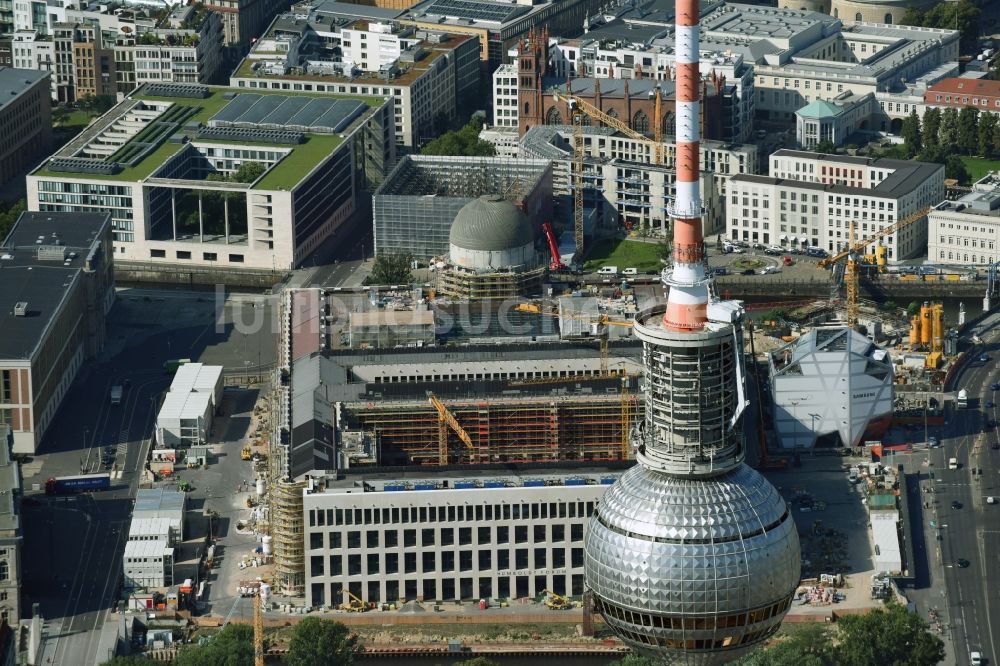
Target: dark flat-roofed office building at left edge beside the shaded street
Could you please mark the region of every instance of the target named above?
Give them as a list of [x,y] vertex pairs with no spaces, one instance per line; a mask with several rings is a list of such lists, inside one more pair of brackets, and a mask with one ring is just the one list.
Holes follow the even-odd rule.
[[0,245],[0,427],[34,454],[114,302],[107,213],[23,213]]

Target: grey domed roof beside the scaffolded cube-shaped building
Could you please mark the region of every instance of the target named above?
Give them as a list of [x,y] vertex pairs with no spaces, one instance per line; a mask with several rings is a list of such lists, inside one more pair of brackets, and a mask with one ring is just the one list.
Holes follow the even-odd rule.
[[465,250],[506,250],[535,240],[531,222],[521,209],[499,195],[474,199],[451,224],[448,241]]

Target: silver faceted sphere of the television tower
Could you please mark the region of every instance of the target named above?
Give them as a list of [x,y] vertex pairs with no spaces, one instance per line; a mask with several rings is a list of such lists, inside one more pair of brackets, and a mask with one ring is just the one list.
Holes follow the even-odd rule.
[[615,633],[691,666],[728,663],[777,631],[801,564],[787,504],[746,465],[707,479],[636,465],[601,499],[585,552]]

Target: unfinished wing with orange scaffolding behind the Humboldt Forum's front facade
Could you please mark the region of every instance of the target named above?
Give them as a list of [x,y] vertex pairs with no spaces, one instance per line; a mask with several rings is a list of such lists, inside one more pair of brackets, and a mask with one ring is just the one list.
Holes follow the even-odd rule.
[[305,380],[319,380],[335,432],[376,435],[372,464],[611,461],[629,456],[640,351],[616,343],[603,364],[596,342],[401,348],[316,355],[296,368],[318,364]]

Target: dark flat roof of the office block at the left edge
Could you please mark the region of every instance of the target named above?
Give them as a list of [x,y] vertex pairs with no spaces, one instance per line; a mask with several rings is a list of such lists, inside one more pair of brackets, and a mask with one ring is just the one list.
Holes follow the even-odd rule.
[[[30,359],[111,224],[105,213],[22,213],[0,245],[0,359]],[[15,306],[26,303],[23,314]]]

